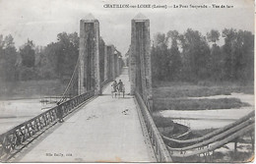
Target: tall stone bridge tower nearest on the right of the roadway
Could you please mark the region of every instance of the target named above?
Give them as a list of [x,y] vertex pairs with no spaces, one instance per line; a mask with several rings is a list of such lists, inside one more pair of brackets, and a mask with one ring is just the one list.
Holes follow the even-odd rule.
[[150,20],[138,14],[132,20],[130,47],[131,94],[138,92],[152,107]]

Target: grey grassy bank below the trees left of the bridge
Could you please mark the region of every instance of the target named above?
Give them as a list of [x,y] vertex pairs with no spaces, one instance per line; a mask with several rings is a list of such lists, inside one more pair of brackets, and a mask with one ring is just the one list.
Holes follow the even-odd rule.
[[0,99],[38,98],[60,95],[66,84],[58,80],[1,82]]

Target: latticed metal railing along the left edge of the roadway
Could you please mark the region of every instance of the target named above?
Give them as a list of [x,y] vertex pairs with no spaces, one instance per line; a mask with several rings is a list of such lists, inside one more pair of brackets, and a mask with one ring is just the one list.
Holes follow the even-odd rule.
[[38,137],[56,124],[58,108],[63,111],[63,117],[65,117],[94,95],[94,90],[78,95],[0,135],[0,161],[8,160],[17,150],[30,143],[34,137]]

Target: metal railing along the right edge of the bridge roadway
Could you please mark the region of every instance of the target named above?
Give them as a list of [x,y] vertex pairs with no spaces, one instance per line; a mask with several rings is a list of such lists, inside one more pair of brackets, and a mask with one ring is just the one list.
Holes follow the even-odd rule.
[[139,109],[142,114],[143,121],[145,122],[147,132],[150,137],[158,162],[172,162],[169,152],[160,136],[160,132],[149,112],[149,109],[147,108],[147,106],[149,106],[149,102],[144,103],[141,95],[138,92],[135,92],[135,96],[140,106]]

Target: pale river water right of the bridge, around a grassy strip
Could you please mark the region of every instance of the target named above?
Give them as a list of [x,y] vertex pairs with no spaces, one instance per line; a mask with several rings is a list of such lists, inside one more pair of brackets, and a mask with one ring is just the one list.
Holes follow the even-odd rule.
[[191,130],[204,130],[211,128],[222,128],[225,125],[235,122],[237,119],[254,110],[254,95],[244,93],[231,93],[231,95],[215,95],[205,97],[189,97],[191,99],[200,98],[239,98],[242,102],[251,106],[239,109],[215,109],[215,110],[164,110],[160,111],[163,117],[171,118],[175,123],[190,127]]

